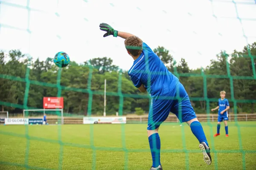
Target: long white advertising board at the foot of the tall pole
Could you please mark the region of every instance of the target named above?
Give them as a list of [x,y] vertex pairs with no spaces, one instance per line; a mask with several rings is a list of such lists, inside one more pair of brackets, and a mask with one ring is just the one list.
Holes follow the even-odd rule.
[[109,124],[125,124],[126,117],[84,117],[84,124],[97,124],[97,123],[109,123]]

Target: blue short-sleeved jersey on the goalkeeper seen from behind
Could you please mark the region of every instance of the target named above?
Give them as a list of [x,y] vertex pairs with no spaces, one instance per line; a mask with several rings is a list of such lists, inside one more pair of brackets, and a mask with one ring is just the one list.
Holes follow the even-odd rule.
[[143,51],[128,72],[135,87],[142,84],[151,98],[168,96],[179,82],[163,64],[161,59],[143,42]]

